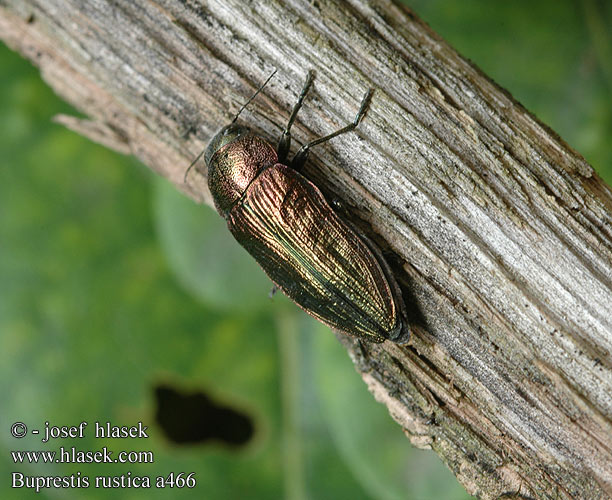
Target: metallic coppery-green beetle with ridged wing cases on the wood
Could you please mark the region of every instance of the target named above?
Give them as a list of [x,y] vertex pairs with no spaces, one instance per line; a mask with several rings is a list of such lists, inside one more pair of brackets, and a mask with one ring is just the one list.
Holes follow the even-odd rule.
[[291,127],[313,82],[312,71],[276,148],[236,124],[275,73],[210,140],[185,172],[185,182],[204,154],[217,212],[275,288],[332,329],[372,342],[404,344],[410,330],[402,293],[380,250],[340,219],[300,173],[310,148],[357,127],[373,90],[363,97],[352,123],[308,142],[287,164]]

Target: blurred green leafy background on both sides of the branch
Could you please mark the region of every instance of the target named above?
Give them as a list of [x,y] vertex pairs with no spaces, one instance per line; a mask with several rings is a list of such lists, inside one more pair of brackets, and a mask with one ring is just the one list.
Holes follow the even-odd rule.
[[[408,4],[612,183],[609,2]],[[325,327],[269,300],[221,218],[53,124],[76,112],[3,45],[0,65],[2,498],[468,498],[433,452],[410,448]],[[252,438],[173,444],[155,421],[158,384],[248,416]],[[83,440],[8,432],[82,420]],[[95,421],[142,421],[150,437],[96,440]],[[17,466],[10,455],[59,446],[151,450],[155,463]],[[14,471],[196,472],[197,486],[35,495],[9,488]]]

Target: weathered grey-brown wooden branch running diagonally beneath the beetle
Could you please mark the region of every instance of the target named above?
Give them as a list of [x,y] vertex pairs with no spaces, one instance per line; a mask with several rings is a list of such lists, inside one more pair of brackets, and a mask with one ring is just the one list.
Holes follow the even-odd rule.
[[89,119],[210,203],[185,167],[242,115],[278,137],[306,70],[298,142],[352,118],[307,175],[385,252],[407,347],[344,338],[413,444],[495,498],[612,495],[612,193],[584,159],[385,0],[2,0],[2,38]]

